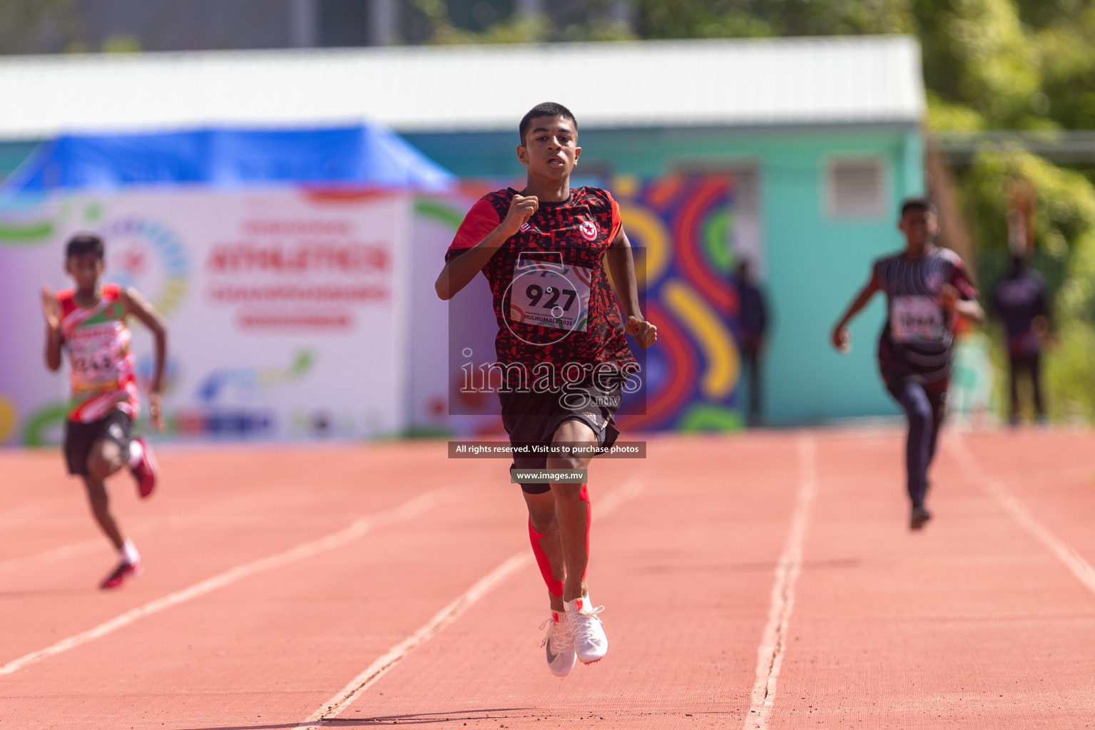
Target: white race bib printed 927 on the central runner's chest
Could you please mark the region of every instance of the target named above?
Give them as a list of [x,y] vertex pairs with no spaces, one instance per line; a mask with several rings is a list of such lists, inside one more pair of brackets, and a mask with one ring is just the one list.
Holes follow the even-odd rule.
[[538,327],[586,332],[593,271],[519,256],[509,291],[509,318]]

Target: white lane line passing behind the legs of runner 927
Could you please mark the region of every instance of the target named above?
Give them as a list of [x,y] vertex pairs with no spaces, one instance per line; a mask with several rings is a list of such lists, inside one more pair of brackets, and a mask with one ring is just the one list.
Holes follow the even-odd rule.
[[[608,517],[622,503],[635,497],[643,490],[637,478],[629,479],[622,487],[610,491],[595,502],[595,519]],[[426,622],[414,634],[403,639],[391,649],[385,651],[376,661],[350,680],[338,694],[323,703],[323,705],[308,716],[295,730],[307,730],[309,728],[322,728],[324,720],[336,718],[344,709],[354,703],[366,690],[371,687],[388,673],[395,664],[406,659],[407,654],[420,647],[439,634],[446,626],[460,617],[460,614],[472,607],[480,599],[486,595],[492,588],[514,575],[526,565],[532,563],[530,549],[523,549],[509,556],[494,570],[480,578],[466,591],[461,593],[454,601],[438,611],[433,618]]]

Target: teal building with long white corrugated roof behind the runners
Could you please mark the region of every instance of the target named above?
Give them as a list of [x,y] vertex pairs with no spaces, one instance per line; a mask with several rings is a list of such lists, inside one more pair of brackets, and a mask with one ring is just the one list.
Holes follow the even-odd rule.
[[[549,92],[482,80],[587,69],[591,83],[576,74],[550,92],[578,115],[585,182],[733,181],[724,245],[756,264],[779,323],[764,417],[792,425],[892,410],[881,389],[860,386],[872,348],[841,358],[825,335],[866,262],[895,245],[897,201],[923,192],[919,63],[908,37],[27,58],[0,61],[0,90],[20,101],[0,138],[30,149],[61,132],[376,120],[459,177],[509,182],[521,174],[516,123]],[[880,317],[876,303],[865,339]]]

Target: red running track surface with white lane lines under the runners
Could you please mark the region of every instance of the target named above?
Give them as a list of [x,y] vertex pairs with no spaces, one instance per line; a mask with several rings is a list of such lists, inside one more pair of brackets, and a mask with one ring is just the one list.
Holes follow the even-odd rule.
[[922,533],[901,445],[659,437],[596,463],[611,649],[565,680],[504,461],[164,449],[148,502],[112,482],[146,573],[104,593],[60,456],[0,452],[0,730],[1095,728],[1095,438],[947,434]]

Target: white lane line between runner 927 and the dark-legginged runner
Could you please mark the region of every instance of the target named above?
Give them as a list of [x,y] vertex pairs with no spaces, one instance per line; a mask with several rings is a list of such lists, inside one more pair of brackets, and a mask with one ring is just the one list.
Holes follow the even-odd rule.
[[757,681],[746,716],[745,730],[764,730],[775,707],[775,683],[783,665],[786,648],[787,625],[795,605],[795,582],[803,566],[803,546],[806,543],[806,528],[809,524],[810,507],[817,494],[817,443],[809,434],[798,439],[798,493],[795,496],[795,513],[791,520],[791,531],[783,546],[783,554],[775,567],[775,583],[772,586],[772,604],[768,612],[768,625],[757,649]]

